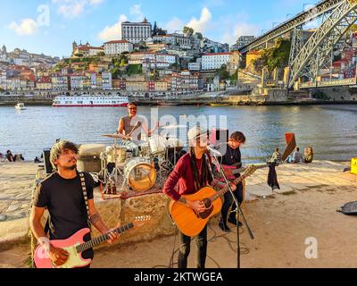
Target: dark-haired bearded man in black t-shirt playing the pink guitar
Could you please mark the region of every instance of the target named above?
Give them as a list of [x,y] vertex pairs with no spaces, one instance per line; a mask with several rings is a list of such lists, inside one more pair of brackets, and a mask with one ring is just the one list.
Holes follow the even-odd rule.
[[[45,208],[50,214],[48,221],[50,240],[66,240],[77,231],[90,227],[89,224],[93,224],[102,234],[109,233],[109,243],[118,238],[116,233],[105,226],[96,211],[93,199],[94,181],[90,174],[84,172],[87,189],[87,198],[85,198],[86,194],[82,190],[80,174],[77,171],[78,153],[78,147],[69,141],[62,140],[54,144],[50,153],[50,161],[56,171],[37,186],[30,215],[31,231],[38,243],[46,248],[49,257],[57,266],[64,265],[69,254],[64,249],[48,244],[46,231],[41,224]],[[84,240],[90,239],[90,233],[88,233]],[[93,249],[84,251],[82,257],[93,259]]]

